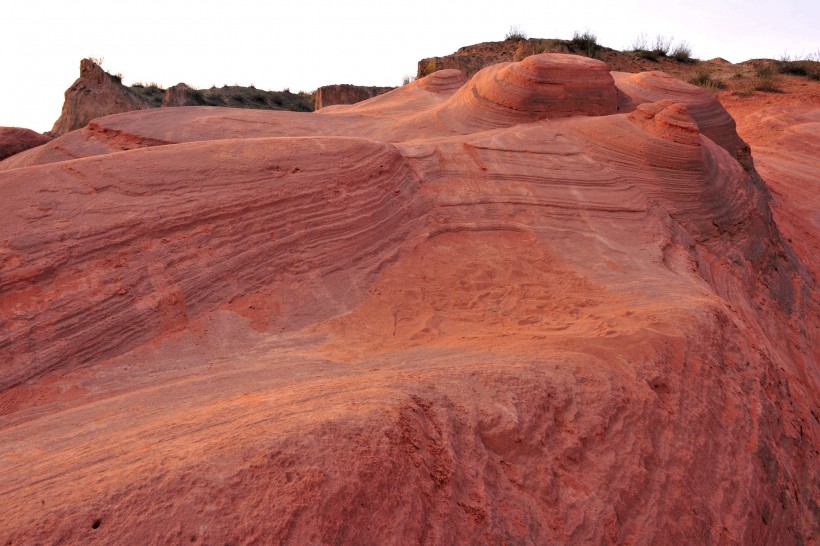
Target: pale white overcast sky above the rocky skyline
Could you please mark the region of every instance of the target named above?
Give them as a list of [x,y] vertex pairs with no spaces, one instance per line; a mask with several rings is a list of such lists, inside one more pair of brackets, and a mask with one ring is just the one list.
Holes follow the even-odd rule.
[[503,40],[591,30],[628,48],[644,33],[732,62],[820,51],[817,0],[18,0],[0,10],[0,125],[47,131],[80,59],[103,57],[124,82],[184,81],[313,90],[400,85],[424,57]]

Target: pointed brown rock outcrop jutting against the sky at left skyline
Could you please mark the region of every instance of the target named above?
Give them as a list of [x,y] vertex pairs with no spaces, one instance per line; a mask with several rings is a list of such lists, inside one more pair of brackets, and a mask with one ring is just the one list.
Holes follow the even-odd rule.
[[151,104],[91,59],[80,61],[80,77],[66,89],[63,112],[51,133],[60,136],[85,127],[94,118],[144,110]]

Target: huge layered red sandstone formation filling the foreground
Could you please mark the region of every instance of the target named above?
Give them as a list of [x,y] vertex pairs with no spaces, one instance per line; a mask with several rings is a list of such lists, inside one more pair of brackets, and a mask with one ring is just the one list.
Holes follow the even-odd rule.
[[4,161],[0,538],[811,543],[817,286],[738,146],[538,55]]

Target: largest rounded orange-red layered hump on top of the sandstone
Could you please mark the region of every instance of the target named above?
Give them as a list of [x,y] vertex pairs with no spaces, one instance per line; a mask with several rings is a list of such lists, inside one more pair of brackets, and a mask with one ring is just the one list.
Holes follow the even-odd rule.
[[543,53],[479,71],[441,105],[438,115],[464,131],[549,118],[606,116],[617,110],[615,80],[606,63]]

